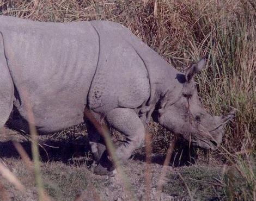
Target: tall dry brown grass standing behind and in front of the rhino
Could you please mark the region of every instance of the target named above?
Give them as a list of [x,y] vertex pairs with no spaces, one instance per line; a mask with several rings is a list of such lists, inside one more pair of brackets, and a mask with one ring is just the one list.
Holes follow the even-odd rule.
[[[196,151],[208,162],[230,165],[220,183],[225,199],[256,199],[255,1],[0,0],[0,15],[47,22],[119,22],[181,71],[208,55],[206,70],[196,78],[205,108],[216,115],[231,108],[237,112],[220,149]],[[166,153],[171,137],[153,123],[151,131],[153,151]]]

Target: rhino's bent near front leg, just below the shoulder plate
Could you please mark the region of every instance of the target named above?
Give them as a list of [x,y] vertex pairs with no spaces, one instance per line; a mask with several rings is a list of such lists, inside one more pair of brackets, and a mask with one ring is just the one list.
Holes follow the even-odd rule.
[[117,158],[126,161],[144,142],[145,128],[133,109],[116,108],[108,112],[107,122],[126,136],[126,141],[116,149]]

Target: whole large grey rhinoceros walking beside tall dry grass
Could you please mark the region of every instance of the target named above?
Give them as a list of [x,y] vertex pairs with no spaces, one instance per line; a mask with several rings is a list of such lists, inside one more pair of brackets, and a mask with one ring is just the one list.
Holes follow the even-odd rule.
[[[182,74],[118,23],[46,23],[0,16],[0,127],[16,108],[28,121],[32,107],[40,133],[96,120],[126,135],[117,156],[127,160],[142,145],[154,110],[161,125],[199,147],[216,149],[234,115],[211,116],[200,104],[193,76],[205,59]],[[15,106],[15,107],[14,107]],[[22,122],[15,122],[22,127]],[[95,173],[113,168],[106,147],[87,122]]]

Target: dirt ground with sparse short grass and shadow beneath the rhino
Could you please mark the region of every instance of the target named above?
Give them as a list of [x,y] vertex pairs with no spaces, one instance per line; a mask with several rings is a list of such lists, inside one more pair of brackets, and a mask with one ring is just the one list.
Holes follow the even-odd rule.
[[[1,175],[0,181],[10,200],[37,200],[33,173],[20,159],[13,141],[19,141],[31,155],[28,137],[5,129],[0,132],[0,162],[21,180],[26,191],[18,191]],[[108,177],[93,174],[95,164],[84,131],[40,136],[39,143],[44,187],[54,200],[224,200],[226,197],[219,166],[165,166],[166,176],[161,179],[162,190],[158,191],[165,157],[162,154],[153,154],[153,163],[148,165],[143,150],[138,150],[121,166],[125,174]]]

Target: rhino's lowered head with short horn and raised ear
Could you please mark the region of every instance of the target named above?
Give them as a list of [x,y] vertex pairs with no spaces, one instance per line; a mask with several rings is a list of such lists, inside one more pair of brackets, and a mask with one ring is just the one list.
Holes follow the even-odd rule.
[[162,98],[159,123],[174,134],[182,135],[193,145],[214,150],[222,142],[224,124],[235,114],[212,116],[200,103],[193,76],[202,70],[205,63],[203,58],[185,74],[178,74],[181,90],[175,93],[168,91]]

